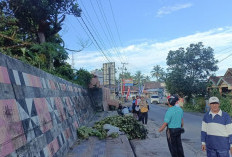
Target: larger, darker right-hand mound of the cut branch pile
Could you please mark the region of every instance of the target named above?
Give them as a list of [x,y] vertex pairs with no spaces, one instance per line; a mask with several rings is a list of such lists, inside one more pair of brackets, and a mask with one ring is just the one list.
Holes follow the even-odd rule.
[[142,124],[139,124],[132,116],[107,117],[102,121],[96,122],[94,128],[106,133],[103,129],[104,124],[119,127],[120,131],[126,133],[128,139],[145,139],[147,137],[147,129]]

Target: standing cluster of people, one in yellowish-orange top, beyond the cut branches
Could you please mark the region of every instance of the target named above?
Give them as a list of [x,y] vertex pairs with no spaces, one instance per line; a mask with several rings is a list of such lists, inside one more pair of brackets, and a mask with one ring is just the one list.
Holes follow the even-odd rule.
[[144,95],[132,97],[132,113],[134,117],[147,125],[149,104]]

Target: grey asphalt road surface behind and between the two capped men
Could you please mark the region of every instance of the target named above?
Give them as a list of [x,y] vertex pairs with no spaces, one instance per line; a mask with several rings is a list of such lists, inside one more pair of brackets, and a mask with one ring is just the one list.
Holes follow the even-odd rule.
[[[163,124],[164,115],[168,107],[164,105],[151,104],[148,113],[149,119],[155,121],[157,125]],[[182,142],[190,145],[195,150],[201,149],[201,121],[203,114],[184,112],[185,133],[182,134]]]

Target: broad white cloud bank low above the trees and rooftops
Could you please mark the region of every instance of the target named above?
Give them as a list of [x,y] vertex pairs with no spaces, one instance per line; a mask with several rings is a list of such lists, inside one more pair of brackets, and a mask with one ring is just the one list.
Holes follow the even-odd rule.
[[[165,42],[146,41],[139,44],[131,44],[124,48],[118,48],[120,56],[112,54],[112,61],[115,61],[117,67],[121,67],[121,60],[127,62],[128,71],[135,73],[142,71],[145,75],[150,75],[152,67],[160,65],[166,69],[166,57],[170,50],[177,50],[180,47],[188,47],[192,43],[203,42],[205,47],[214,49],[215,58],[219,61],[232,53],[232,27],[222,27],[212,29],[206,32],[196,32],[194,34],[175,38]],[[123,59],[125,58],[125,59]],[[232,67],[232,56],[218,64],[219,71],[217,75],[223,75],[227,68]],[[71,62],[71,60],[69,61]],[[75,68],[84,67],[88,70],[102,68],[106,63],[100,52],[82,52],[75,55]]]

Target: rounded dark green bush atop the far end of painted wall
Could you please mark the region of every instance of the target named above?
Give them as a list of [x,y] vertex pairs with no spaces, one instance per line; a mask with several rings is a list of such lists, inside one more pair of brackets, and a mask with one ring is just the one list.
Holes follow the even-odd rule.
[[85,69],[80,68],[75,73],[74,81],[81,86],[88,87],[92,78],[93,75],[91,73]]

